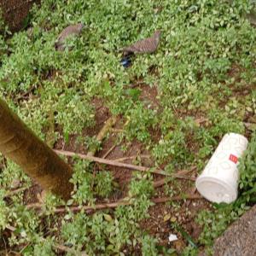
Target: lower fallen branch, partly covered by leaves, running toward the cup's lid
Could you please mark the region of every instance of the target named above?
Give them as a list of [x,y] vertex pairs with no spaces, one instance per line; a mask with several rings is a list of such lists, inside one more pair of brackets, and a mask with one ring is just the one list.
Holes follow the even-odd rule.
[[[167,201],[195,200],[195,199],[201,199],[201,198],[202,198],[201,195],[177,195],[172,197],[153,198],[151,199],[151,201],[157,204],[157,203],[164,203]],[[67,212],[67,210],[72,212],[79,212],[81,210],[96,211],[96,210],[102,210],[107,208],[116,208],[120,206],[130,206],[130,205],[132,205],[131,201],[120,200],[112,203],[98,204],[95,206],[57,207],[55,208],[54,212],[55,213]],[[42,204],[34,203],[34,204],[27,205],[26,207],[28,209],[41,210]]]

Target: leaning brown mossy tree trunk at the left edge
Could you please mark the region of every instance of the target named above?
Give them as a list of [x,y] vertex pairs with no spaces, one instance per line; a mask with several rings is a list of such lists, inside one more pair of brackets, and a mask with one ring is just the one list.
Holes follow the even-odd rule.
[[43,189],[70,197],[72,169],[0,99],[0,152],[15,161]]

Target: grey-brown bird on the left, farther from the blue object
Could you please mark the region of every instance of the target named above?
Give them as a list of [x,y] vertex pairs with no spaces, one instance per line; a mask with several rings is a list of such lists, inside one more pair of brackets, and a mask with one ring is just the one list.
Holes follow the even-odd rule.
[[83,23],[78,23],[76,25],[70,25],[63,29],[61,34],[55,41],[55,49],[63,50],[65,48],[65,40],[70,36],[77,36],[82,31],[84,27]]

